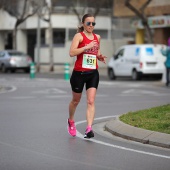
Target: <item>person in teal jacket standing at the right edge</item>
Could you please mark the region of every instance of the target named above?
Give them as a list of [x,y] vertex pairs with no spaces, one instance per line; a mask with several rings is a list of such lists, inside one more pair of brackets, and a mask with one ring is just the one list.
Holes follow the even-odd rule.
[[168,38],[168,46],[166,49],[161,49],[162,54],[166,57],[166,86],[170,84],[170,37]]

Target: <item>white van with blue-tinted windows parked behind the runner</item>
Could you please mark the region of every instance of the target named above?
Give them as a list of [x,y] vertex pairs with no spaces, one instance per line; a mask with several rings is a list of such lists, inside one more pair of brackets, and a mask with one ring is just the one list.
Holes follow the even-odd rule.
[[131,76],[139,80],[143,75],[162,76],[165,69],[165,57],[161,54],[162,44],[133,44],[119,48],[108,62],[108,76]]

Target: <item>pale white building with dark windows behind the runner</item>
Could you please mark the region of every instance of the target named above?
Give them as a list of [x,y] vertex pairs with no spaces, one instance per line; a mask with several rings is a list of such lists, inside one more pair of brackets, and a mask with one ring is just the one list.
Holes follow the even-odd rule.
[[[66,5],[69,0],[60,1],[53,7],[51,15],[51,25],[53,32],[53,62],[55,68],[63,67],[67,62],[73,65],[74,59],[69,57],[69,48],[77,27],[80,24],[78,17]],[[78,11],[91,13],[92,7],[83,7],[82,1],[77,5]],[[96,16],[95,33],[101,35],[101,50],[106,56],[113,54],[112,24],[110,8],[101,8]],[[82,14],[83,16],[84,14]],[[12,49],[12,31],[16,19],[11,17],[6,11],[0,11],[0,50]],[[40,29],[38,29],[40,28]],[[37,33],[40,31],[40,47],[37,46]],[[49,51],[49,23],[39,20],[38,15],[28,18],[17,30],[17,50],[28,53],[35,62],[40,62],[41,68],[47,70],[50,63]],[[39,51],[39,54],[38,54]],[[101,63],[100,63],[101,64]],[[101,67],[104,66],[101,64]],[[105,67],[105,66],[104,66]]]

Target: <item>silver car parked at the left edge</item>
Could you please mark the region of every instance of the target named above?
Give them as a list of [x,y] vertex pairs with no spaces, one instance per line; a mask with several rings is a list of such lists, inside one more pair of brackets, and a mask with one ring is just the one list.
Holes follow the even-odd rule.
[[31,57],[21,51],[0,51],[0,70],[4,73],[8,70],[10,70],[11,72],[15,72],[18,69],[29,72],[31,62]]

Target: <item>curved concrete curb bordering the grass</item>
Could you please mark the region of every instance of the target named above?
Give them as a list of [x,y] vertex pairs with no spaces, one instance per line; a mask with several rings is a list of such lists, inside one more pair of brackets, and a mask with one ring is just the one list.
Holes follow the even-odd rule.
[[144,144],[150,144],[170,149],[170,135],[165,133],[154,132],[150,130],[144,130],[136,128],[119,120],[119,117],[109,120],[105,129],[113,135],[141,142]]

